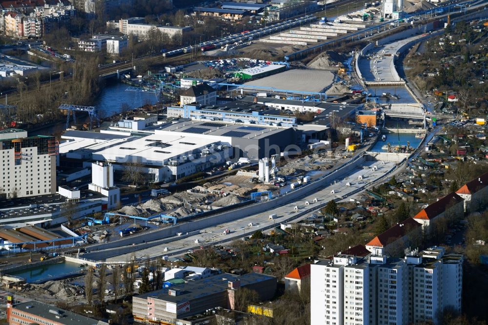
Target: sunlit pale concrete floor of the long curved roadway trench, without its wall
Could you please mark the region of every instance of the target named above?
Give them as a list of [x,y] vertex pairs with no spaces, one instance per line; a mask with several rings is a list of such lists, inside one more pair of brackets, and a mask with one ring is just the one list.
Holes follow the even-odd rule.
[[[375,168],[376,166],[376,168]],[[395,163],[389,162],[365,162],[363,168],[354,168],[342,177],[337,178],[325,188],[309,194],[294,203],[287,203],[272,210],[245,217],[228,223],[222,223],[201,229],[200,234],[186,237],[183,239],[175,238],[166,244],[160,244],[149,248],[141,249],[128,254],[115,256],[118,248],[107,249],[99,253],[106,254],[107,262],[124,262],[132,258],[146,259],[161,256],[178,256],[186,253],[190,249],[200,246],[214,245],[230,242],[236,238],[254,233],[258,229],[270,229],[280,223],[288,221],[296,222],[311,215],[311,209],[318,209],[330,200],[346,199],[347,197],[361,191],[364,187],[383,178],[389,171],[395,168]],[[317,202],[314,203],[314,199]],[[310,211],[303,214],[304,211]],[[276,218],[270,219],[269,216],[276,214]],[[227,234],[225,230],[229,230]]]

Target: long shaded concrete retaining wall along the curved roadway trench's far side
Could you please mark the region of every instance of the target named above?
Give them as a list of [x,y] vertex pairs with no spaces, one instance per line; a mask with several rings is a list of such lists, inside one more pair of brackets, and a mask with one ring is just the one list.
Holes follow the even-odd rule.
[[[312,182],[308,185],[301,186],[300,188],[293,190],[292,192],[288,192],[285,195],[275,197],[272,200],[264,201],[263,203],[256,203],[249,206],[245,206],[240,209],[232,210],[229,212],[225,212],[222,214],[213,215],[211,217],[202,218],[198,220],[193,220],[181,224],[177,224],[176,226],[167,227],[163,229],[158,229],[153,232],[144,232],[140,235],[128,236],[126,238],[109,242],[109,243],[102,243],[102,244],[94,244],[92,246],[87,247],[86,249],[90,251],[90,253],[83,254],[83,258],[88,259],[97,259],[102,256],[102,258],[107,258],[108,252],[98,254],[96,251],[98,250],[106,250],[111,248],[116,248],[117,255],[123,254],[124,246],[129,246],[133,244],[137,244],[137,250],[148,248],[155,246],[157,244],[163,244],[174,240],[174,238],[169,238],[175,236],[176,233],[192,233],[193,231],[197,231],[199,229],[203,229],[212,225],[226,223],[230,221],[234,221],[237,219],[241,219],[250,215],[255,215],[262,213],[264,211],[272,210],[274,207],[283,205],[286,203],[294,202],[297,199],[304,197],[306,195],[310,195],[314,191],[321,189],[327,186],[331,181],[334,179],[339,178],[341,175],[344,175],[351,170],[355,169],[358,165],[364,163],[366,161],[366,156],[361,155],[355,157],[352,161],[345,164],[343,167],[331,172],[328,175],[323,176],[322,178],[318,179],[315,182]],[[165,238],[162,240],[162,238]],[[182,238],[182,237],[178,237]],[[151,242],[151,243],[149,243]],[[121,247],[121,248],[119,248]]]

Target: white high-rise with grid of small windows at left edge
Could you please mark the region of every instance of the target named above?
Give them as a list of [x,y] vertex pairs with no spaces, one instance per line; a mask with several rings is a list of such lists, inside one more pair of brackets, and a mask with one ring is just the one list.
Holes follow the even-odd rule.
[[56,193],[56,155],[54,137],[27,137],[27,132],[19,129],[0,131],[0,195],[13,198]]

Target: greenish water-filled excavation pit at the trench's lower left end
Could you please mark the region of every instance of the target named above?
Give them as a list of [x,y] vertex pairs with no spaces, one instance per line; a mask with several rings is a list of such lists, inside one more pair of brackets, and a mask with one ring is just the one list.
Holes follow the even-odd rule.
[[36,281],[49,281],[51,278],[55,279],[62,275],[77,272],[82,270],[79,264],[71,262],[61,262],[56,264],[48,264],[43,266],[37,266],[33,268],[27,268],[16,272],[9,273],[16,277],[25,278],[27,283],[33,283]]

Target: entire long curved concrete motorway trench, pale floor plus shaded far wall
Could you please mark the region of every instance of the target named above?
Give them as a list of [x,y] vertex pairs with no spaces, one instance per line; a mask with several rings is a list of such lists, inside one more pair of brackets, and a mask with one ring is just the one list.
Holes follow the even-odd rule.
[[163,230],[95,244],[86,247],[87,252],[80,257],[124,262],[132,258],[178,256],[190,249],[230,242],[280,223],[297,222],[330,200],[349,200],[395,170],[396,163],[369,159],[369,155],[360,154],[328,175],[281,197]]

